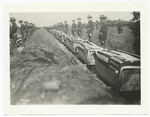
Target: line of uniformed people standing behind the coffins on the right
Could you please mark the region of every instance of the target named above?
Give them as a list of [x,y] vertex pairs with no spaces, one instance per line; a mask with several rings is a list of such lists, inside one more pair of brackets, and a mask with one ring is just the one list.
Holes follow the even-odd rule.
[[[75,19],[72,20],[71,25],[71,32],[73,36],[79,36],[82,37],[82,29],[87,29],[87,36],[89,41],[92,41],[93,37],[93,31],[94,28],[96,28],[99,32],[99,41],[102,47],[105,48],[106,40],[107,40],[107,31],[109,27],[117,27],[118,34],[123,33],[123,26],[128,26],[131,32],[134,34],[134,44],[133,44],[133,50],[135,51],[135,54],[140,55],[140,12],[133,12],[133,19],[128,21],[123,21],[121,19],[118,20],[108,20],[107,16],[104,14],[100,15],[100,21],[96,20],[96,22],[93,22],[92,16],[88,15],[87,24],[82,24],[81,18],[77,18],[77,22],[75,22]],[[60,22],[57,24],[54,24],[53,26],[48,27],[48,29],[55,29],[60,30],[65,33],[68,33],[68,23],[67,21]]]

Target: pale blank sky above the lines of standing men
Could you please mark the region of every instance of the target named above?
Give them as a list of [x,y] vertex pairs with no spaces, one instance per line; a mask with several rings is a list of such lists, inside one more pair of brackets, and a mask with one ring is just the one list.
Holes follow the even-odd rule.
[[87,15],[92,15],[92,20],[99,20],[101,14],[104,14],[111,20],[122,19],[129,21],[133,18],[131,12],[36,12],[36,13],[10,13],[10,17],[16,18],[16,23],[22,19],[34,23],[37,26],[52,26],[54,23],[64,22],[66,20],[68,24],[72,23],[72,20],[80,17],[82,22],[87,23]]

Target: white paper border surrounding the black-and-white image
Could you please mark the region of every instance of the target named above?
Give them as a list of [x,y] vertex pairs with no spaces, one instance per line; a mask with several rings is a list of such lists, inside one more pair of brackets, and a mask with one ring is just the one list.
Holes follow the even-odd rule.
[[[34,9],[38,9],[38,6],[39,5],[41,5],[41,4],[38,4],[36,7],[34,7]],[[97,6],[98,4],[96,4],[95,6]],[[102,5],[102,4],[101,4]],[[101,5],[98,5],[99,7],[101,6]],[[105,4],[105,5],[107,5],[107,4]],[[53,9],[53,11],[55,11],[55,10],[57,10],[57,9],[55,9],[55,7],[54,7],[54,5],[48,5],[48,4],[46,4],[46,6],[47,7],[49,7],[49,8],[51,8],[51,9]],[[73,5],[73,6],[75,6],[75,4]],[[91,5],[85,5],[84,4],[84,10],[89,10],[89,7],[90,7]],[[102,5],[102,7],[103,7],[104,5]],[[117,6],[119,6],[119,5],[117,5]],[[118,7],[115,7],[115,8],[108,8],[108,7],[105,7],[104,9],[106,9],[105,11],[108,11],[108,9],[109,9],[109,11],[111,11],[111,10],[113,10],[113,11],[117,11],[117,10],[119,10],[120,8],[122,9],[122,11],[125,11],[125,10],[128,10],[128,11],[133,11],[133,10],[140,10],[140,11],[142,11],[142,39],[147,39],[147,11],[145,11],[144,9],[146,8],[146,7],[144,7],[144,8],[141,8],[140,6],[141,6],[141,4],[140,4],[140,6],[139,5],[135,5],[135,4],[129,4],[129,3],[127,3],[127,4],[123,4],[123,6],[125,6],[125,7],[122,7],[121,5],[120,5],[120,7],[119,7],[119,9],[118,9]],[[27,11],[29,11],[29,12],[35,12],[35,10],[33,9],[33,5],[28,5],[27,7],[25,7],[25,5],[23,5],[23,7],[24,8],[27,8],[26,9],[26,12]],[[7,8],[7,9],[10,9],[10,11],[11,12],[16,12],[16,11],[18,11],[18,9],[19,9],[19,12],[23,12],[23,7],[20,7],[20,6],[18,6],[18,7],[14,7],[14,6],[12,6],[12,7],[10,7],[9,6],[9,8]],[[44,6],[45,7],[45,6]],[[78,5],[78,7],[79,7],[79,5]],[[86,8],[85,8],[86,7]],[[100,7],[100,9],[96,9],[96,10],[102,10],[101,8],[102,7]],[[60,8],[60,7],[59,7]],[[71,7],[72,9],[70,10],[70,11],[80,11],[81,10],[81,8],[80,8],[80,10],[77,10],[76,8],[74,8],[74,7]],[[95,11],[95,10],[93,10],[93,8],[94,7],[92,7],[92,9],[90,9],[90,11]],[[95,7],[95,8],[97,8],[97,7]],[[29,10],[30,9],[30,10]],[[103,10],[104,10],[103,9]],[[16,10],[16,11],[15,11]],[[44,12],[44,9],[39,9],[40,10],[40,12]],[[64,9],[65,10],[65,9]],[[52,10],[51,10],[52,11]],[[62,10],[61,10],[62,11]],[[67,11],[67,10],[66,10]],[[120,10],[119,10],[120,11]],[[9,12],[9,10],[4,10],[4,16],[6,16],[7,17],[7,19],[8,19],[8,12]],[[47,11],[46,11],[47,12]],[[4,24],[7,24],[7,21],[8,20],[4,20]],[[6,32],[4,32],[4,36],[6,36],[7,34],[8,34],[8,29],[6,29],[6,26],[8,26],[8,25],[5,25],[5,27],[4,27],[4,31],[6,31]],[[7,39],[9,39],[8,38],[8,36],[6,37]],[[6,46],[7,45],[7,43],[8,43],[8,40],[4,40],[4,50],[8,50],[8,46]],[[141,58],[141,60],[142,60],[142,68],[143,68],[143,65],[144,65],[144,70],[142,70],[142,72],[143,73],[145,73],[145,75],[144,75],[144,77],[143,77],[143,79],[144,79],[144,81],[142,80],[142,84],[144,84],[144,87],[147,87],[147,80],[146,80],[146,78],[147,78],[147,67],[146,67],[146,65],[147,65],[147,60],[146,60],[146,58],[147,58],[147,55],[145,55],[145,53],[147,52],[147,40],[146,41],[142,41],[142,45],[144,45],[144,48],[143,48],[143,46],[142,46],[142,49],[144,50],[144,55],[142,55],[142,58]],[[144,59],[143,59],[144,58]],[[7,60],[8,60],[8,56],[6,56],[6,53],[5,53],[5,55],[4,55],[4,60],[5,60],[5,63],[6,62],[8,62]],[[144,60],[144,61],[143,61]],[[8,65],[9,63],[7,63],[7,65]],[[9,65],[8,66],[4,66],[4,75],[6,75],[7,77],[4,77],[4,82],[5,82],[5,84],[7,84],[7,86],[9,86]],[[142,74],[143,75],[143,74]],[[5,79],[6,78],[6,79]],[[4,86],[6,86],[4,84]],[[6,87],[5,87],[5,89],[7,89]],[[145,90],[145,88],[144,88],[144,90]],[[143,90],[143,88],[142,88],[142,91],[143,91],[143,93],[145,92]],[[12,107],[12,106],[9,106],[9,102],[8,102],[8,90],[6,91],[4,91],[4,100],[5,100],[5,108],[4,109],[7,109],[8,110],[8,108],[10,108],[11,109],[11,111],[9,110],[9,112],[8,111],[6,111],[5,110],[5,113],[9,113],[9,114],[29,114],[30,112],[31,112],[31,110],[28,110],[27,111],[27,109],[29,109],[30,107],[33,109],[32,110],[32,114],[39,114],[42,110],[39,110],[39,109],[36,109],[36,108],[39,108],[39,107],[37,107],[37,106],[27,106],[27,108],[25,107],[25,106],[22,106],[22,107],[19,107],[19,106],[16,106],[16,108],[14,109],[14,107]],[[144,97],[142,97],[142,100],[144,100],[144,103],[142,102],[142,105],[145,107],[147,104],[146,104],[146,100],[147,100],[147,94],[146,93],[144,93],[143,94],[142,93],[142,96],[144,96]],[[7,105],[8,104],[8,105]],[[7,105],[7,106],[6,106]],[[40,107],[42,107],[43,108],[43,106],[40,106]],[[48,110],[47,110],[47,112],[44,112],[43,114],[50,114],[49,113],[49,108],[51,108],[51,106],[45,106],[46,108],[48,107]],[[54,107],[58,107],[58,106],[52,106],[52,108],[54,108]],[[60,106],[60,107],[64,107],[64,106]],[[141,113],[141,111],[142,111],[142,113],[144,112],[146,112],[146,110],[142,110],[142,109],[140,109],[140,110],[138,110],[140,107],[139,106],[126,106],[127,108],[126,108],[126,110],[125,110],[125,113],[121,113],[121,110],[124,110],[123,108],[125,108],[125,106],[117,106],[117,107],[115,107],[114,108],[114,106],[81,106],[81,107],[77,107],[76,108],[76,106],[70,106],[69,108],[68,107],[66,107],[65,106],[65,108],[64,108],[64,110],[63,110],[63,112],[62,112],[62,114],[65,114],[64,112],[65,111],[67,111],[67,112],[69,112],[69,110],[70,111],[77,111],[78,112],[78,114],[85,114],[82,110],[83,110],[83,108],[84,107],[86,107],[86,114],[106,114],[107,112],[108,112],[108,110],[109,110],[109,113],[110,112],[112,112],[111,114],[140,114]],[[98,109],[97,109],[97,107],[98,107]],[[101,108],[102,107],[102,108]],[[66,109],[69,109],[69,110],[66,110]],[[113,109],[112,109],[113,108]],[[133,109],[132,111],[131,111],[131,108]],[[22,110],[23,109],[23,110]],[[82,110],[81,110],[82,109]],[[84,108],[85,109],[85,108]],[[93,111],[93,113],[91,112],[91,109],[92,110],[94,110]],[[107,111],[106,111],[106,110]],[[37,113],[37,110],[38,110],[38,113]],[[58,113],[58,110],[59,109],[57,109],[57,110],[55,110],[54,109],[54,112],[56,112],[56,113]],[[60,108],[60,110],[61,110],[61,108]],[[99,110],[101,111],[101,112],[103,112],[103,113],[99,113]],[[17,111],[17,112],[16,112]],[[23,112],[24,111],[24,112]],[[46,111],[46,110],[45,110]],[[119,111],[119,113],[117,113]],[[106,113],[105,113],[106,112]],[[30,113],[31,114],[31,113]],[[67,114],[69,114],[69,113],[67,113]],[[70,113],[71,114],[71,113]]]

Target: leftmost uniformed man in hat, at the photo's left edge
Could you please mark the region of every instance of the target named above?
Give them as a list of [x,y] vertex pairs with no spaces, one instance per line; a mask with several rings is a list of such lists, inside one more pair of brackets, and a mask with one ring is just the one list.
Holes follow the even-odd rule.
[[14,17],[10,18],[11,27],[10,27],[10,55],[15,54],[15,44],[17,40],[17,24],[15,23],[16,19]]

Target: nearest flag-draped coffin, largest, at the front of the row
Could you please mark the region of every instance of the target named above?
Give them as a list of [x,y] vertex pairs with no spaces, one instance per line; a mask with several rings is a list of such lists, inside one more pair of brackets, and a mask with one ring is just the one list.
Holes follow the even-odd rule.
[[119,51],[94,53],[95,70],[119,91],[140,90],[140,57]]

